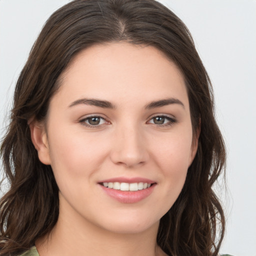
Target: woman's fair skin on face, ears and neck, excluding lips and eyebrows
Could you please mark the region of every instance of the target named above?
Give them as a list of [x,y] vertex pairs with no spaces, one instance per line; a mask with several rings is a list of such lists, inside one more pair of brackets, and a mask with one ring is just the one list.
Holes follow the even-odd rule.
[[[59,218],[36,241],[40,256],[165,255],[156,245],[159,219],[178,197],[197,149],[181,72],[156,48],[122,42],[83,50],[61,78],[45,123],[30,123],[38,157],[59,187]],[[78,104],[81,98],[115,108]],[[145,108],[166,98],[181,103]],[[99,125],[86,126],[91,115],[102,117]],[[156,184],[146,198],[123,203],[98,183],[120,176]]]

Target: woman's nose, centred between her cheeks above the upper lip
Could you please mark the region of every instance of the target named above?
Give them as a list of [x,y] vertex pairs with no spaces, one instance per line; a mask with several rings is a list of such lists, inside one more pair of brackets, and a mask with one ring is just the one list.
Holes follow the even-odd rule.
[[144,164],[149,154],[141,133],[136,127],[126,126],[116,130],[110,154],[112,162],[129,168]]

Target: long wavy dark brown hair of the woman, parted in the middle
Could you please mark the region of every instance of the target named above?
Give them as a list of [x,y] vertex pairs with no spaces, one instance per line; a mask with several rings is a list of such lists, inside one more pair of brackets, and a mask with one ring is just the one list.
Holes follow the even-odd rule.
[[52,169],[37,156],[28,120],[43,120],[60,74],[82,49],[126,41],[161,50],[183,73],[198,150],[184,187],[161,218],[157,243],[169,255],[217,255],[224,215],[212,185],[224,170],[225,148],[214,119],[209,77],[183,22],[154,0],[74,0],[45,23],[14,91],[0,152],[10,183],[0,200],[0,255],[17,255],[48,233],[58,218]]

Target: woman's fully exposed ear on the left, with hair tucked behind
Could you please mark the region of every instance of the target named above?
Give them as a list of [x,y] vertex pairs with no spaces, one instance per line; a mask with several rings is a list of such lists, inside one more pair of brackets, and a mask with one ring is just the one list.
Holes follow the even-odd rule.
[[37,150],[39,160],[44,164],[50,164],[50,154],[47,133],[44,125],[35,120],[29,120],[32,143]]

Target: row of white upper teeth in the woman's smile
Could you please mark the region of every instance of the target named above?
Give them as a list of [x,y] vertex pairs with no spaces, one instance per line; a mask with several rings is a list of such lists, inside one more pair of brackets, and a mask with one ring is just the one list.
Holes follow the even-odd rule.
[[122,191],[137,191],[148,188],[151,183],[126,183],[126,182],[103,182],[103,186]]

